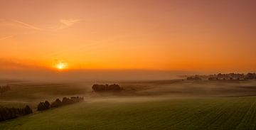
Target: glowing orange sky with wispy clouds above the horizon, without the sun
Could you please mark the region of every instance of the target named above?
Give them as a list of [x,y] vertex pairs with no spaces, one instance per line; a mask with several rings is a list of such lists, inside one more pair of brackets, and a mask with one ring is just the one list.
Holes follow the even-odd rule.
[[256,70],[253,0],[0,1],[0,69]]

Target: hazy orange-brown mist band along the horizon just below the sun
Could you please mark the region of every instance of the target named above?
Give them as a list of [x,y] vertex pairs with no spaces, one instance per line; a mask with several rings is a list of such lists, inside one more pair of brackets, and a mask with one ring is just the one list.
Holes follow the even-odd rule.
[[170,80],[178,78],[178,75],[194,73],[178,70],[0,70],[0,72],[0,79],[51,82]]

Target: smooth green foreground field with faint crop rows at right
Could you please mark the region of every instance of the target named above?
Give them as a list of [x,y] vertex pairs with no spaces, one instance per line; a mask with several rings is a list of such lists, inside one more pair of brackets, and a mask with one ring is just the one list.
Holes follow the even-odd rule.
[[0,123],[0,129],[256,129],[256,97],[88,102]]

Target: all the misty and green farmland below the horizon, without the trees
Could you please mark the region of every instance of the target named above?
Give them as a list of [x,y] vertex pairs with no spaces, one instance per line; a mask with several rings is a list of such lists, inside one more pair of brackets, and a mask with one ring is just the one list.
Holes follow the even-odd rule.
[[73,95],[85,102],[2,121],[0,129],[256,129],[255,80],[119,82],[124,91],[107,94],[92,92],[92,82],[9,85],[1,106]]

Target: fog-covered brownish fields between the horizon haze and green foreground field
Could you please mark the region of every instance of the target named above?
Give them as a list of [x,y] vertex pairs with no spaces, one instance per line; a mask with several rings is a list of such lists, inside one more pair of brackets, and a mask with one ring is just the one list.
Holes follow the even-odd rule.
[[[121,92],[94,92],[94,84],[118,84]],[[4,106],[36,107],[41,101],[53,102],[56,98],[80,96],[86,102],[135,102],[156,99],[193,97],[244,97],[256,95],[256,80],[137,80],[137,81],[21,81],[0,80],[11,90],[0,94]]]

